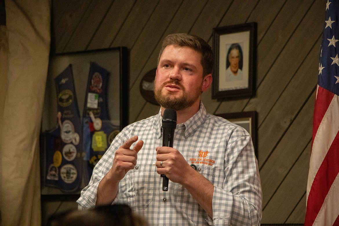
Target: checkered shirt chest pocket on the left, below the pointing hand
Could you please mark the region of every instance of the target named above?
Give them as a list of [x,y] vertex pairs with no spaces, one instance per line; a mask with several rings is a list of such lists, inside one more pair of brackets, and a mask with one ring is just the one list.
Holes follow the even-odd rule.
[[154,198],[156,167],[136,165],[119,184],[119,199],[132,209],[145,209]]

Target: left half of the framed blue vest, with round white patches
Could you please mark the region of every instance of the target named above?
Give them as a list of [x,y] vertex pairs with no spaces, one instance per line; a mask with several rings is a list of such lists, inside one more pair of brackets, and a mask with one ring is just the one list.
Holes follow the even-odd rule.
[[57,126],[44,135],[45,185],[74,192],[82,181],[83,136],[72,65],[54,81],[58,98]]

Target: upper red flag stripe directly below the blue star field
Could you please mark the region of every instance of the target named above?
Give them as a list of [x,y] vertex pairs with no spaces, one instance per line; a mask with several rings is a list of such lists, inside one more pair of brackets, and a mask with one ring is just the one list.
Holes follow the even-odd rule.
[[323,87],[318,87],[317,99],[314,104],[314,117],[313,117],[313,133],[312,133],[312,146],[314,137],[318,131],[321,120],[324,118],[324,115],[327,111],[328,106],[330,106],[331,101],[334,97],[334,93],[331,93]]

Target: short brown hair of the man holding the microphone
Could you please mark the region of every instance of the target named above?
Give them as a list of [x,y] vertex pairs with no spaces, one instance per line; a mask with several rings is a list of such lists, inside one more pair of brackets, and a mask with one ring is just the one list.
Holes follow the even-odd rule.
[[168,45],[187,46],[201,53],[201,65],[203,68],[203,76],[212,74],[213,70],[213,52],[210,45],[205,40],[188,34],[171,34],[168,35],[162,42],[161,50],[158,57],[158,65],[160,57]]

